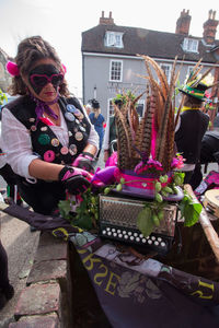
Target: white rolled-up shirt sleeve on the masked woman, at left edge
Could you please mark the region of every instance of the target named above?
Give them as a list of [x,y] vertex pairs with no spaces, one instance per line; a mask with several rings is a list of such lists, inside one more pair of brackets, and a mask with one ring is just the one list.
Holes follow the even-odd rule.
[[8,108],[2,110],[1,140],[7,162],[13,172],[31,178],[28,165],[38,156],[33,154],[30,131]]

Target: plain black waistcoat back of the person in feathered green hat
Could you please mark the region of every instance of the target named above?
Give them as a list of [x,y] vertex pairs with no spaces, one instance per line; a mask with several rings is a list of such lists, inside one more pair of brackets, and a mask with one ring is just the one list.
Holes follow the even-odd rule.
[[181,114],[181,126],[175,132],[177,152],[182,153],[186,164],[196,164],[200,156],[200,144],[209,124],[208,115],[198,109],[188,109]]

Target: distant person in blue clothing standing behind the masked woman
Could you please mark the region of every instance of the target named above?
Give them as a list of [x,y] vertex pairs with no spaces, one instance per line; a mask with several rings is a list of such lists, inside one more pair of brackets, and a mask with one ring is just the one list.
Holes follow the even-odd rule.
[[100,152],[102,150],[103,144],[103,138],[104,138],[104,127],[105,127],[105,118],[101,114],[101,107],[100,103],[96,99],[92,99],[91,106],[92,106],[92,113],[89,115],[91,124],[94,126],[94,129],[96,130],[99,134],[99,152],[96,155],[96,159],[100,156]]

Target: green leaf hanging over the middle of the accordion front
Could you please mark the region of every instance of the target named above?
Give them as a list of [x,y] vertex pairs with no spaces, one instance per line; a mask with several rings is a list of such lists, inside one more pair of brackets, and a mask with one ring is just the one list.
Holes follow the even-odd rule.
[[150,208],[146,207],[138,213],[137,226],[145,237],[148,237],[152,233],[154,223],[152,221],[152,211]]

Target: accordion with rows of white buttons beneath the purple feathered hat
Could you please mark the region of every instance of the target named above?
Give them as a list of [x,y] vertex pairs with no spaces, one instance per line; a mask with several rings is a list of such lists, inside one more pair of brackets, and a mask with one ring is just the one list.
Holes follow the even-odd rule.
[[100,232],[103,238],[140,246],[142,249],[166,254],[173,243],[177,221],[177,204],[169,202],[164,218],[150,236],[145,237],[137,226],[138,213],[152,201],[100,195]]

